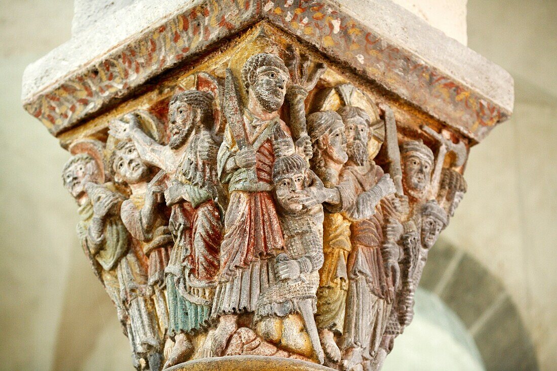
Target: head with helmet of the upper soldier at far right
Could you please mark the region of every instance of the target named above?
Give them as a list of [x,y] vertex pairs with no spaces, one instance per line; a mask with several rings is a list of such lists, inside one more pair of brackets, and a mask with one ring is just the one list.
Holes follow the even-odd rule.
[[423,198],[431,182],[433,152],[422,141],[408,140],[400,148],[404,190],[414,198]]

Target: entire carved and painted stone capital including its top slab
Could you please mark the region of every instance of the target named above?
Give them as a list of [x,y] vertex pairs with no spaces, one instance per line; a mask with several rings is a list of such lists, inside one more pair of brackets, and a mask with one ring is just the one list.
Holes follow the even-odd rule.
[[379,370],[511,76],[389,0],[78,5],[22,100],[134,366]]

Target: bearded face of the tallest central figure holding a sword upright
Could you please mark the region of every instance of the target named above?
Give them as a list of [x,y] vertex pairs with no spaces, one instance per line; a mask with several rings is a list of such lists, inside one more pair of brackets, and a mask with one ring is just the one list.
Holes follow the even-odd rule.
[[262,66],[257,69],[250,90],[265,111],[276,112],[284,103],[286,82],[289,78],[288,74],[278,67]]

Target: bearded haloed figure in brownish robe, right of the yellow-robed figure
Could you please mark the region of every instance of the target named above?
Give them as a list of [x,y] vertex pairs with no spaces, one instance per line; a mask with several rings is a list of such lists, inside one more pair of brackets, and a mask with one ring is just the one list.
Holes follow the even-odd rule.
[[[395,192],[388,175],[369,159],[370,118],[361,108],[346,105],[339,110],[348,139],[348,162],[340,173],[340,182],[353,187],[353,192],[363,198],[344,211],[349,219],[351,252],[348,258],[349,289],[342,338],[344,356],[342,367],[352,370],[369,360],[377,351],[382,338],[390,307],[393,286],[399,279],[398,246],[388,251],[384,248],[383,226],[388,219],[397,221],[399,216],[386,198]],[[360,212],[357,207],[360,207]],[[362,215],[369,215],[365,217]],[[385,261],[384,261],[385,258]]]

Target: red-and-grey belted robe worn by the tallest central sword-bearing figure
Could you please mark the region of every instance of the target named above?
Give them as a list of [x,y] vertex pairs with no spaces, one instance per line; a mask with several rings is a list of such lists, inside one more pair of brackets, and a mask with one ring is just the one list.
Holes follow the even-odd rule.
[[294,143],[278,118],[260,120],[245,113],[247,141],[256,153],[255,182],[248,169],[226,172],[228,160],[238,152],[229,128],[219,149],[219,177],[228,183],[230,202],[224,219],[221,274],[213,301],[213,316],[253,312],[257,300],[275,282],[273,257],[284,239],[271,195],[272,168],[277,155],[293,153]]

